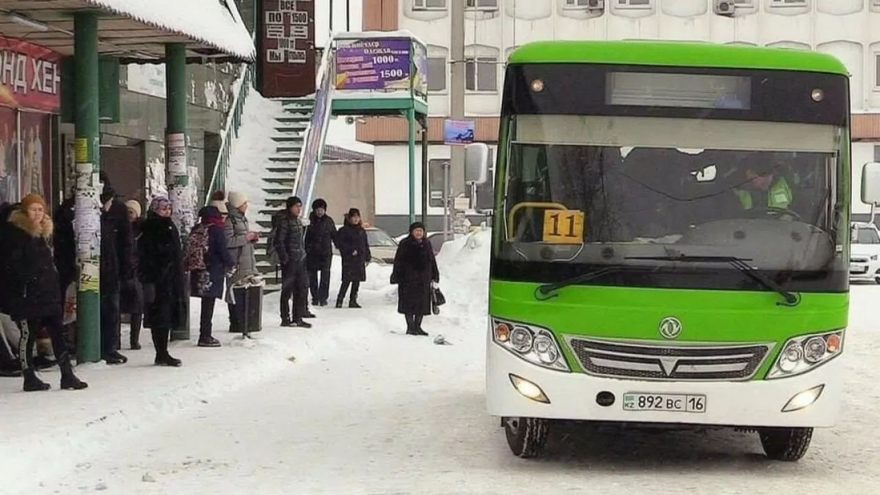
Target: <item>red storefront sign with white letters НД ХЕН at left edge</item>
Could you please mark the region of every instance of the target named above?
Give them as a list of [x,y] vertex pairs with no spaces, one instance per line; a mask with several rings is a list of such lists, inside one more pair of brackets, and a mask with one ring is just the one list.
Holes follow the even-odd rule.
[[48,48],[0,36],[0,105],[58,112],[60,61]]

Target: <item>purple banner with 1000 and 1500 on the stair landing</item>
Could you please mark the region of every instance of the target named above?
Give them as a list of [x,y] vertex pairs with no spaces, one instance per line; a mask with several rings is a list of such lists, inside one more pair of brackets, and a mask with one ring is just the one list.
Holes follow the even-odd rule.
[[409,89],[408,38],[340,41],[336,48],[336,89]]

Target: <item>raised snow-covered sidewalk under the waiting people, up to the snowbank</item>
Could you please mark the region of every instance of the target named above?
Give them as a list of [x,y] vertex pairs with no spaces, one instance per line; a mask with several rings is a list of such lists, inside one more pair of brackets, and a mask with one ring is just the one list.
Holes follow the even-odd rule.
[[[474,241],[471,247],[475,247]],[[449,243],[440,255],[441,270],[457,265],[456,270],[444,274],[441,286],[445,290],[455,284],[464,289],[446,291],[449,300],[444,310],[453,310],[444,318],[444,329],[458,328],[465,322],[473,327],[479,322],[455,314],[477,307],[485,311],[485,273],[473,270],[473,263],[451,260],[454,255],[450,252],[466,243],[466,239]],[[444,257],[449,262],[444,263]],[[340,265],[338,258],[334,259],[334,281],[339,280]],[[474,294],[470,278],[480,273],[484,280],[476,284]],[[263,330],[253,334],[252,340],[229,334],[225,306],[217,305],[215,336],[223,347],[198,348],[194,340],[172,343],[172,355],[183,360],[180,368],[153,366],[153,350],[149,341],[144,341],[142,351],[126,352],[127,365],[77,366],[77,373],[90,384],[84,391],[57,390],[56,371],[42,373],[44,380],[53,384],[53,390],[46,393],[27,394],[21,392],[20,380],[0,380],[4,429],[0,479],[4,480],[4,492],[33,489],[40,481],[21,473],[41,472],[46,466],[52,466],[53,473],[70,472],[83,459],[124,444],[128,436],[155,430],[189,410],[269,380],[291,366],[362,348],[378,336],[415,338],[390,335],[390,330],[403,327],[403,320],[395,311],[396,288],[388,284],[389,276],[390,267],[371,264],[361,291],[364,308],[312,308],[317,314],[312,329],[281,328],[278,294],[269,294],[264,302]],[[193,301],[192,321],[198,321],[198,299]],[[454,335],[449,337],[447,334],[447,340],[455,344]],[[431,338],[420,340],[425,346],[433,345]]]

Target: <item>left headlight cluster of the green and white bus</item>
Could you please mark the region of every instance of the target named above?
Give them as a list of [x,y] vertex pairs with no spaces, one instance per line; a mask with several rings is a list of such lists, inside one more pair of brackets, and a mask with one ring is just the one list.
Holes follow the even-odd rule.
[[556,337],[548,329],[492,318],[492,342],[533,365],[571,371]]

